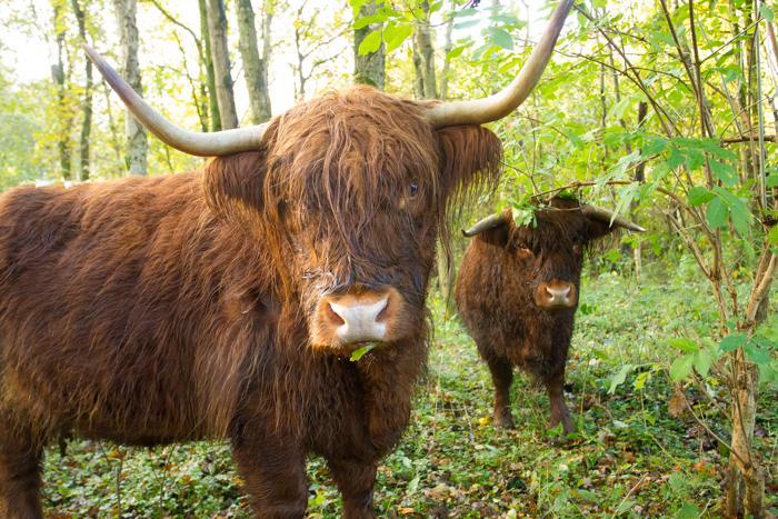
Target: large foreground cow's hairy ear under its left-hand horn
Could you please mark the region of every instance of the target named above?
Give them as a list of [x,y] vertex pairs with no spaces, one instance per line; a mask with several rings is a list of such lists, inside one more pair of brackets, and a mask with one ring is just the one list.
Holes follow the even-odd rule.
[[216,157],[206,164],[206,203],[216,214],[246,221],[262,207],[266,154],[263,151]]

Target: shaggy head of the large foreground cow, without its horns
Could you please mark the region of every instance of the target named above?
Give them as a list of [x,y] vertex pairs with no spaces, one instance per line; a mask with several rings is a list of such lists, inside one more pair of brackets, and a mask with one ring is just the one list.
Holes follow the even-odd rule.
[[493,177],[497,138],[478,127],[433,131],[418,104],[365,88],[291,109],[266,142],[265,171],[255,181],[237,173],[249,191],[232,206],[242,214],[256,208],[258,219],[243,224],[269,234],[312,347],[346,355],[422,337],[447,201],[478,171]]

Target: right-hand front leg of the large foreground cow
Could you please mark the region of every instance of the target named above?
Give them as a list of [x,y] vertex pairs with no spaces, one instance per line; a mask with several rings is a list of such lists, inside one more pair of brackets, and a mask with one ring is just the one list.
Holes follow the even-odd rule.
[[347,519],[376,517],[372,510],[372,488],[376,485],[377,466],[332,459],[328,459],[327,463],[343,497],[343,517]]

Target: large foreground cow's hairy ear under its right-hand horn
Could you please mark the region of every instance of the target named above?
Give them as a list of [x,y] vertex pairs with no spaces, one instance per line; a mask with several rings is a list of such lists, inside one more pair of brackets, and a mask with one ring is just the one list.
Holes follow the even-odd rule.
[[502,146],[495,133],[479,126],[459,126],[441,128],[437,134],[446,198],[461,199],[478,188],[497,186]]

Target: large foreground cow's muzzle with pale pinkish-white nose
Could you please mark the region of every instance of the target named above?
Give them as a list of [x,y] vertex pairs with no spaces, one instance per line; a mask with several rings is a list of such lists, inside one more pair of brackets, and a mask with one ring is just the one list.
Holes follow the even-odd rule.
[[407,306],[389,286],[352,286],[321,297],[311,322],[316,348],[342,349],[363,342],[390,342],[408,335]]

